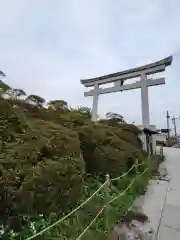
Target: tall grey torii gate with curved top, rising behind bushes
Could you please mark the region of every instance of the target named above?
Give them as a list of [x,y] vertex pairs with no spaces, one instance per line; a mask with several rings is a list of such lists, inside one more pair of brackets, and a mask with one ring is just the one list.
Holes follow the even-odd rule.
[[[93,96],[92,120],[96,121],[98,118],[98,97],[100,94],[141,88],[142,124],[146,126],[150,125],[148,87],[165,84],[165,78],[148,79],[147,76],[165,71],[166,67],[171,65],[172,59],[173,57],[170,56],[160,61],[126,71],[96,78],[82,79],[81,83],[85,87],[94,87],[93,90],[84,92],[85,97]],[[140,77],[140,81],[123,85],[126,80],[136,77]],[[99,87],[106,83],[114,83],[114,86],[108,88]]]

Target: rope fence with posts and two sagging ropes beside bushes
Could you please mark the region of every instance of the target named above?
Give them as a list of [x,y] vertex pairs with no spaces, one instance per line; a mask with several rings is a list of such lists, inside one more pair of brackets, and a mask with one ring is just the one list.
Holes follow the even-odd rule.
[[[53,224],[51,224],[50,226],[44,228],[43,230],[35,233],[34,235],[32,235],[31,237],[26,238],[26,240],[31,240],[31,239],[35,239],[36,237],[43,235],[45,232],[48,232],[50,229],[52,229],[53,227],[59,225],[60,223],[62,223],[63,221],[65,221],[67,218],[69,218],[70,216],[72,216],[74,213],[76,213],[78,210],[80,210],[84,205],[86,205],[88,202],[90,202],[102,189],[104,190],[104,206],[101,208],[101,210],[96,214],[96,216],[94,217],[94,219],[90,222],[90,224],[83,230],[83,232],[78,236],[78,238],[76,238],[76,240],[80,240],[85,233],[87,233],[87,231],[90,229],[90,227],[96,222],[96,220],[98,219],[98,217],[104,213],[104,225],[105,225],[105,229],[108,230],[108,212],[109,212],[109,205],[111,203],[113,203],[115,200],[119,199],[120,197],[124,196],[126,194],[126,192],[132,188],[133,184],[136,182],[137,178],[141,177],[149,168],[147,167],[141,174],[139,174],[139,167],[145,165],[145,162],[138,164],[138,160],[136,161],[136,164],[134,164],[127,172],[125,172],[124,174],[122,174],[121,176],[117,177],[117,178],[110,178],[109,174],[106,174],[106,180],[105,182],[88,198],[86,199],[82,204],[80,204],[77,208],[75,208],[73,211],[71,211],[70,213],[68,213],[66,216],[62,217],[61,219],[59,219],[58,221],[54,222]],[[134,177],[131,181],[131,183],[126,187],[126,189],[119,193],[116,197],[114,197],[113,199],[109,200],[109,190],[110,190],[110,183],[113,183],[115,181],[119,181],[122,178],[124,178],[125,176],[128,175],[128,173],[130,173],[133,169],[136,170],[136,177]]]

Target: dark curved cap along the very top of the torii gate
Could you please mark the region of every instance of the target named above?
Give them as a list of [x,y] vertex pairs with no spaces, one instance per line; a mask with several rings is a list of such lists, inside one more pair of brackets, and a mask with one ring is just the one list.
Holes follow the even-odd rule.
[[165,67],[167,67],[167,66],[171,65],[172,60],[173,60],[173,57],[169,56],[167,58],[161,59],[160,61],[150,63],[150,64],[147,64],[147,65],[144,65],[144,66],[141,66],[141,67],[131,68],[131,69],[128,69],[128,70],[125,70],[125,71],[116,72],[116,73],[112,73],[112,74],[108,74],[108,75],[104,75],[104,76],[100,76],[100,77],[82,79],[81,83],[86,84],[86,83],[96,82],[98,80],[105,80],[105,79],[108,79],[108,78],[118,77],[118,76],[122,76],[122,75],[125,75],[125,74],[136,73],[136,72],[139,72],[139,71],[144,71],[144,70],[147,70],[147,69],[153,69],[155,67],[163,66],[163,65]]

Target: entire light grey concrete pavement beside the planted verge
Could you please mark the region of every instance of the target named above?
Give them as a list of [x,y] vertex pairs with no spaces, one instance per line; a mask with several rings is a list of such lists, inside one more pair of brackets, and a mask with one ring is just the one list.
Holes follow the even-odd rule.
[[[157,148],[157,153],[159,148]],[[134,229],[123,229],[117,225],[113,240],[137,239],[135,232],[141,229],[144,240],[180,240],[180,149],[164,148],[166,157],[159,167],[160,175],[170,177],[170,181],[151,180],[145,195],[137,199],[132,207],[137,207],[148,216],[149,222]],[[153,231],[151,231],[151,229]],[[126,237],[119,238],[126,233]],[[130,235],[129,235],[130,234]],[[124,236],[124,235],[123,235]],[[134,237],[133,237],[134,236]]]

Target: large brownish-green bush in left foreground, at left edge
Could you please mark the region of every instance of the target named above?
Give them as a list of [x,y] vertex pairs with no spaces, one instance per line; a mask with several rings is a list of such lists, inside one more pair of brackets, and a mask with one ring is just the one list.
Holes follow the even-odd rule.
[[25,216],[60,213],[77,204],[84,160],[76,132],[27,121],[19,109],[7,106],[0,121],[0,220],[17,231]]

